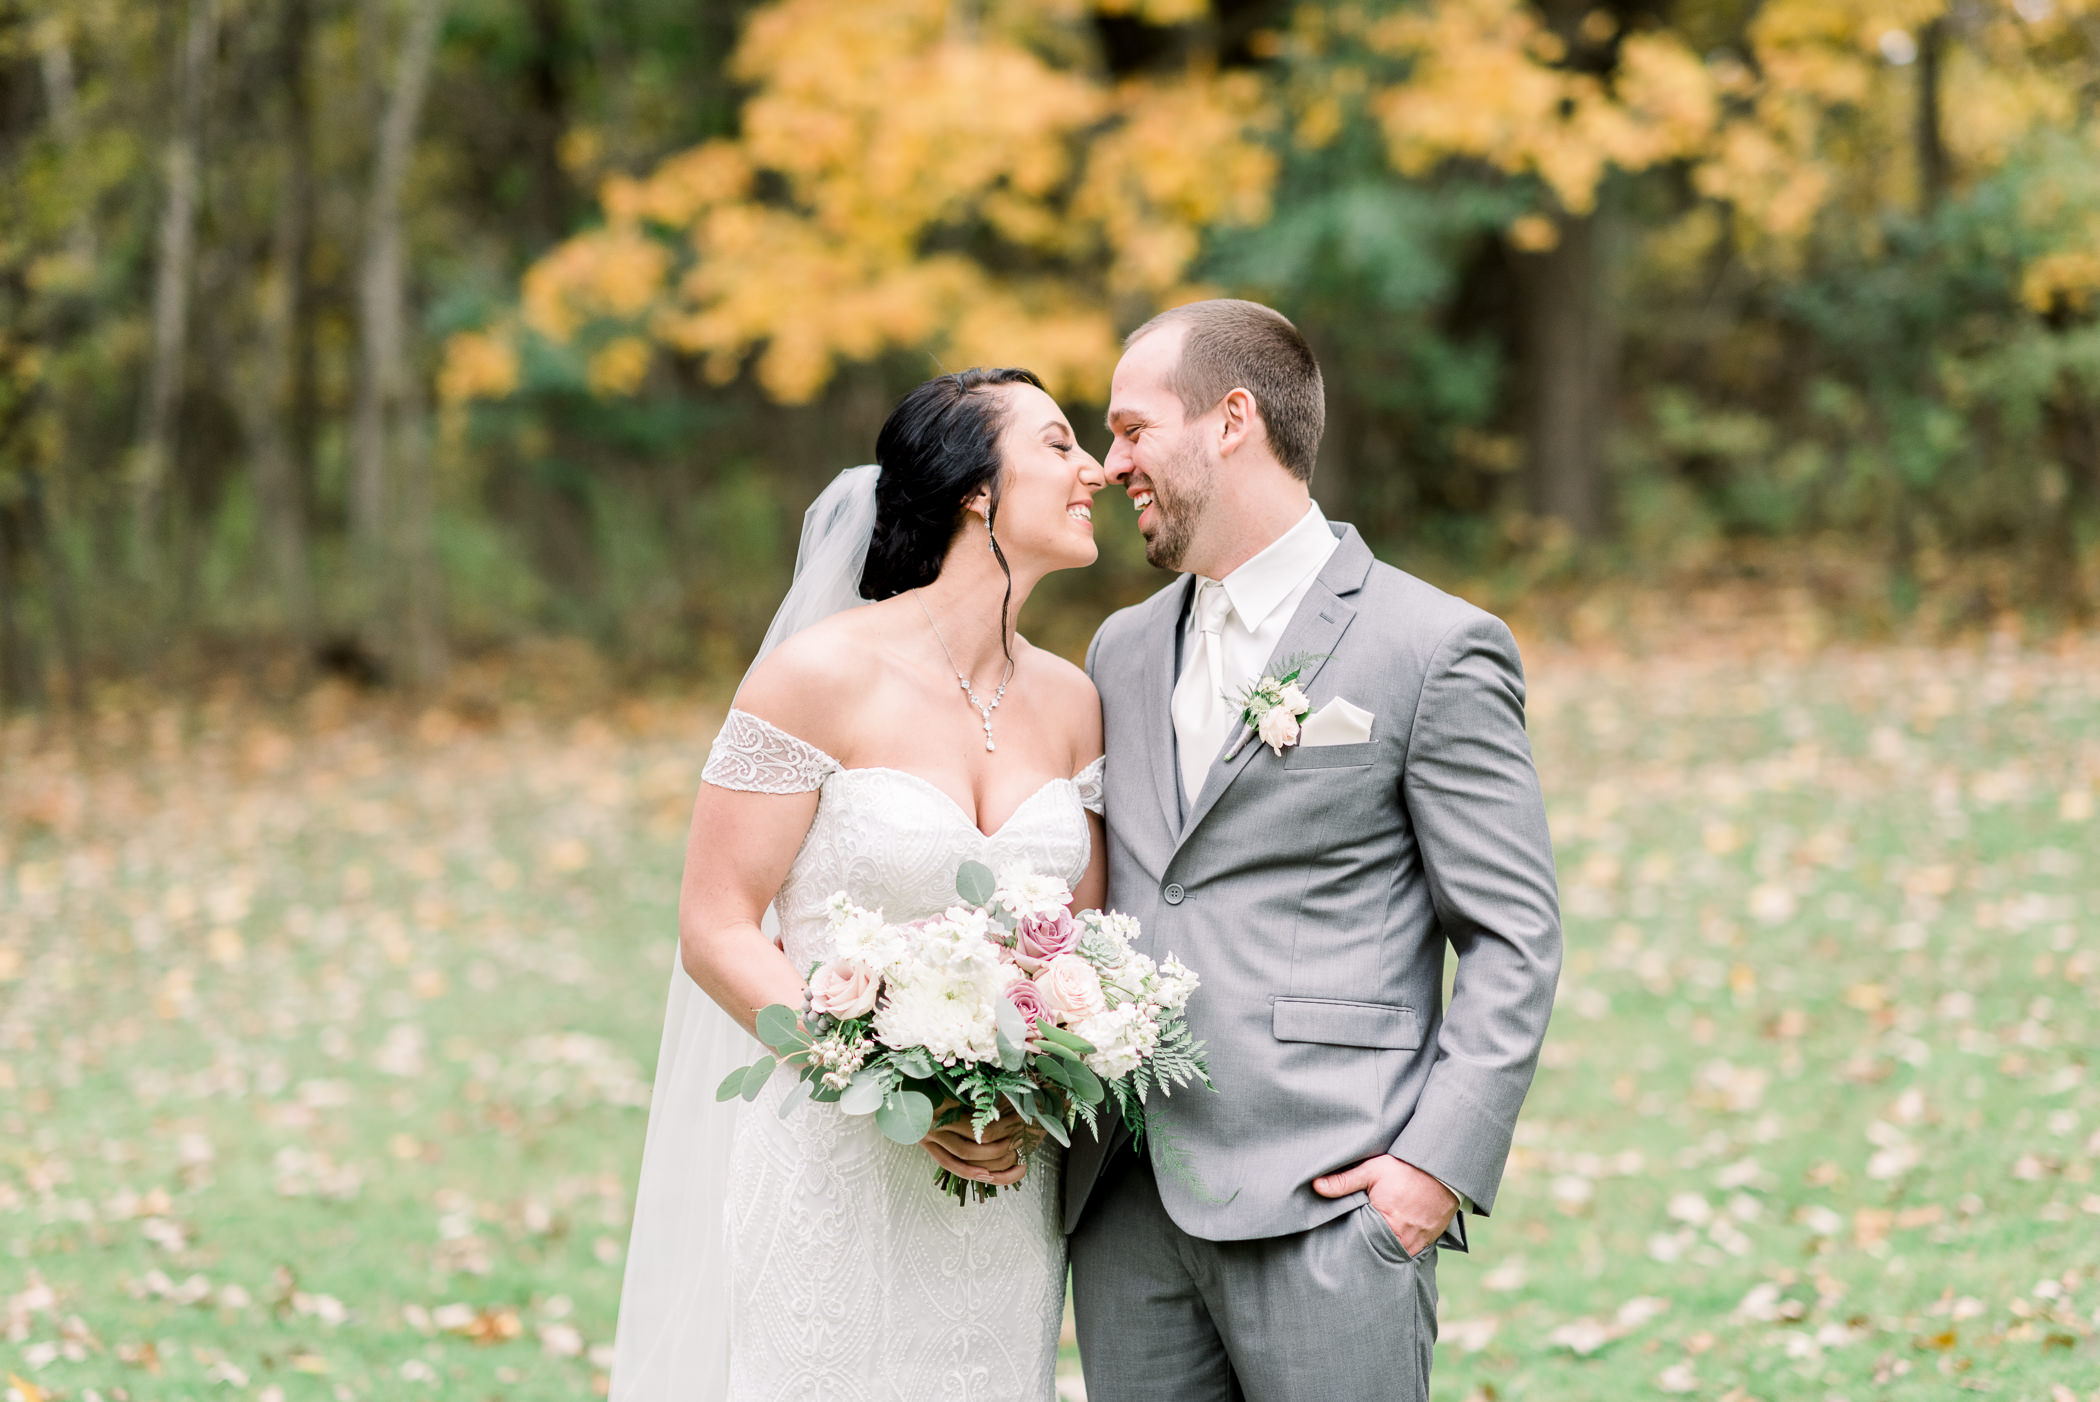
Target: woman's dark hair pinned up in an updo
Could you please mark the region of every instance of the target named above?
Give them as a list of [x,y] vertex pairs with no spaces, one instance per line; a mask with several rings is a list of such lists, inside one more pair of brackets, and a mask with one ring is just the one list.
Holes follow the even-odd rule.
[[[1000,518],[1002,384],[1042,380],[1029,369],[964,369],[918,386],[890,409],[876,434],[876,533],[861,567],[861,598],[890,598],[941,573],[947,546],[962,527],[962,504],[991,487]],[[993,535],[998,539],[998,535]],[[998,544],[993,544],[998,550]],[[1004,567],[1004,556],[1000,558]]]

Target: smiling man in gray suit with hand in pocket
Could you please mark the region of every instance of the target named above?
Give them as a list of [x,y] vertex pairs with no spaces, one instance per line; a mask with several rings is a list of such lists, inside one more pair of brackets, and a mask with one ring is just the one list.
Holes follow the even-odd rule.
[[[1218,1093],[1067,1159],[1092,1402],[1426,1402],[1436,1249],[1495,1203],[1552,1010],[1516,644],[1321,516],[1323,420],[1312,350],[1256,302],[1163,313],[1115,369],[1109,479],[1182,577],[1088,651],[1109,905],[1203,978]],[[1245,688],[1292,665],[1302,722],[1285,693],[1250,737]]]

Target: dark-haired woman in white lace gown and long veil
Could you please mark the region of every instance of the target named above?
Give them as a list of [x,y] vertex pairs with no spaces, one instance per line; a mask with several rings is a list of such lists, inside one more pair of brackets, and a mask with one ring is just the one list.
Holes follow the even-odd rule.
[[[1100,701],[1014,630],[1035,581],[1094,562],[1100,464],[1025,369],[918,386],[876,460],[811,506],[701,770],[611,1402],[1054,1392],[1054,1146],[1023,1163],[1012,1121],[907,1148],[830,1104],[781,1117],[785,1075],[714,1102],[760,1054],[756,1010],[802,1007],[834,890],[918,919],[983,861],[1065,877],[1075,909],[1105,894]],[[960,1207],[937,1167],[1002,1192]]]

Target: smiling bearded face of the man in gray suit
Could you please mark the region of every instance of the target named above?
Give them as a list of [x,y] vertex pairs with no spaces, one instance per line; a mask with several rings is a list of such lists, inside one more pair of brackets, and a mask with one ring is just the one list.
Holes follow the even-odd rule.
[[1144,560],[1157,569],[1197,569],[1191,548],[1218,489],[1218,462],[1174,388],[1184,336],[1170,325],[1140,338],[1109,384],[1113,443],[1102,466],[1138,508]]

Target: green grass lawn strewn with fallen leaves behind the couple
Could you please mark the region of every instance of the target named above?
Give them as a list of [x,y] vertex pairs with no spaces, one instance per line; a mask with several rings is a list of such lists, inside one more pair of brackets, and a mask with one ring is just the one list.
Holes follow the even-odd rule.
[[[1438,1400],[2100,1398],[2100,640],[1531,672],[1569,963]],[[712,718],[477,716],[4,735],[19,1398],[603,1389]]]

